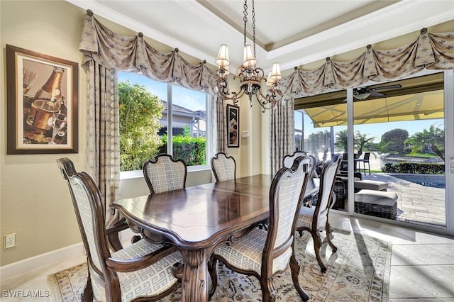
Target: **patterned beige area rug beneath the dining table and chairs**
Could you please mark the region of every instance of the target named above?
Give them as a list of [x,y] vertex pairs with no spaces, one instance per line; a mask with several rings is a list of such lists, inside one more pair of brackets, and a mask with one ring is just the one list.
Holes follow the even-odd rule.
[[[307,232],[297,237],[297,258],[301,263],[299,283],[310,301],[388,301],[392,245],[363,233],[334,230],[333,253],[324,240],[323,262],[328,267],[321,273],[315,258],[314,243]],[[51,300],[80,301],[87,280],[87,265],[65,269],[48,277]],[[277,301],[301,301],[295,291],[290,269],[275,279]],[[181,288],[160,300],[181,301]],[[218,264],[218,287],[211,301],[262,301],[260,283],[254,276],[236,274]]]

